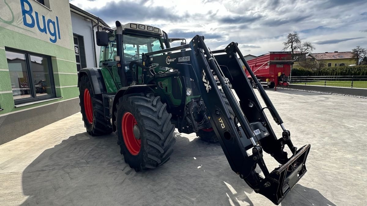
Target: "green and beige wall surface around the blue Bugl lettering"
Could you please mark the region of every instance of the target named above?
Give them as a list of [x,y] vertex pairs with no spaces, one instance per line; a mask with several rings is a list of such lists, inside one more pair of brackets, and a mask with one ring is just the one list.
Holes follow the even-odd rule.
[[[78,88],[76,87],[77,69],[69,2],[50,1],[50,9],[48,9],[37,1],[28,1],[33,8],[33,17],[35,16],[35,12],[38,12],[40,17],[44,15],[46,22],[47,19],[55,21],[56,16],[58,17],[59,28],[57,29],[60,32],[61,38],[57,38],[57,42],[52,43],[49,40],[50,33],[45,34],[40,32],[37,25],[33,28],[23,25],[20,1],[6,1],[5,7],[1,10],[5,13],[1,15],[0,19],[0,106],[4,108],[3,111],[0,111],[0,115],[76,98],[79,95]],[[29,15],[26,16],[28,18],[27,21],[30,22]],[[57,32],[56,29],[55,32]],[[16,108],[5,54],[6,48],[51,56],[56,97],[62,97],[62,99],[49,100]],[[79,107],[79,105],[76,106]]]

